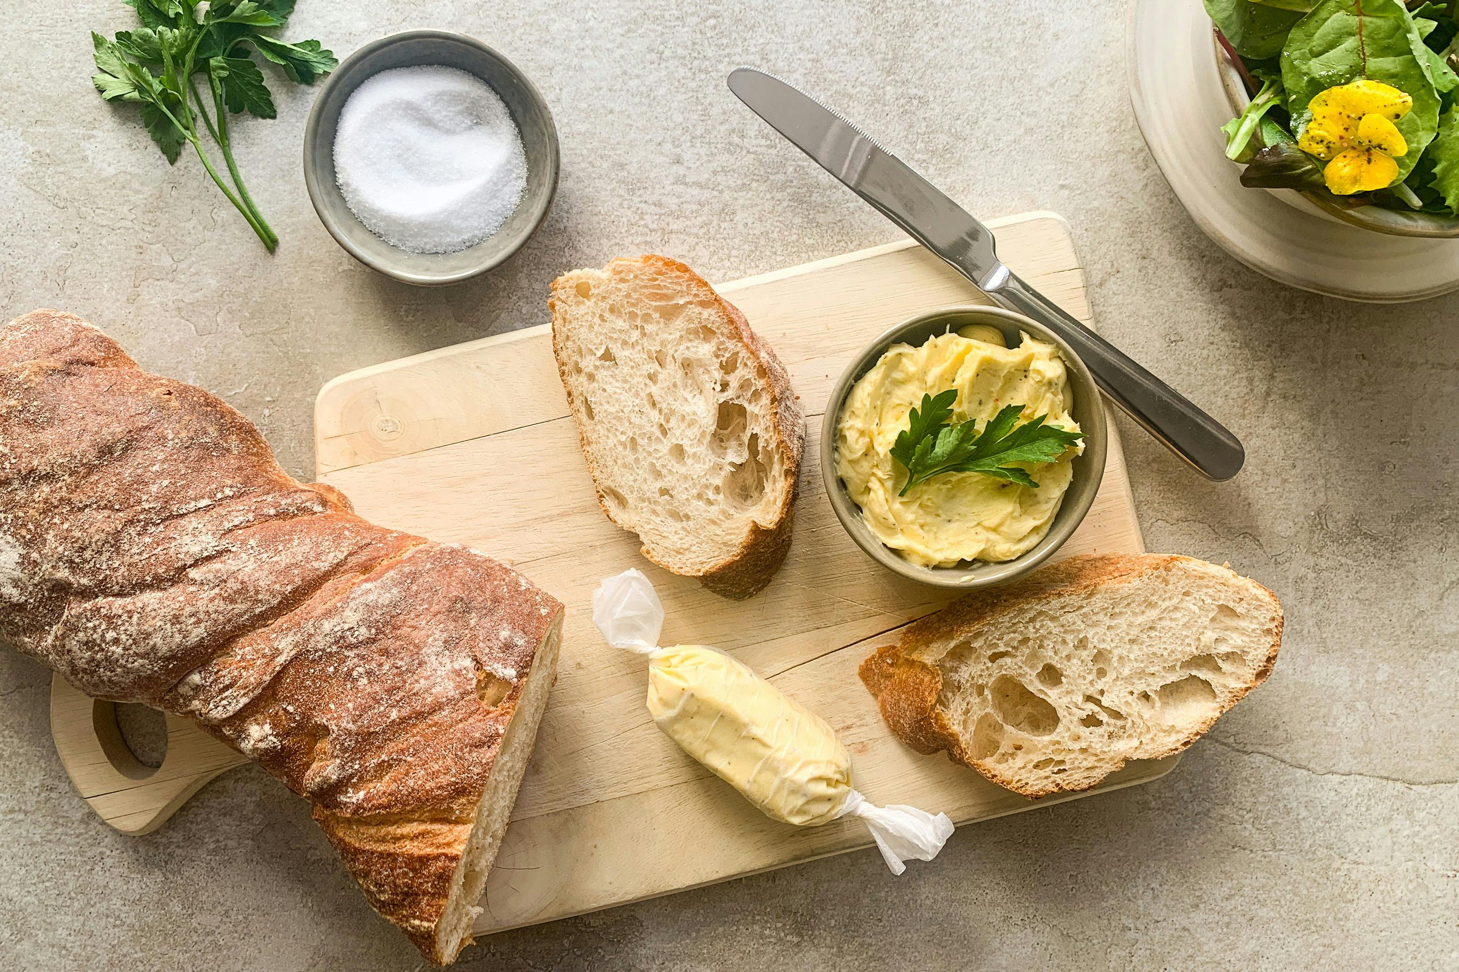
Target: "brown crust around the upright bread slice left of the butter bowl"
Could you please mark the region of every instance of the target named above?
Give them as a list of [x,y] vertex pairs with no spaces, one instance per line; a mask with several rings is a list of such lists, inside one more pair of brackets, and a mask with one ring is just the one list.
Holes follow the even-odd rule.
[[[785,485],[781,491],[779,507],[769,526],[762,526],[750,519],[744,539],[740,541],[737,549],[725,554],[725,557],[722,557],[716,564],[700,573],[687,573],[681,568],[681,565],[670,563],[670,558],[657,554],[648,544],[643,544],[642,546],[643,557],[654,561],[664,570],[681,576],[699,577],[699,581],[716,595],[734,600],[743,600],[757,593],[770,581],[789,551],[795,497],[800,485],[800,465],[801,456],[805,450],[805,418],[795,404],[795,393],[791,389],[789,373],[775,356],[775,351],[770,350],[770,345],[750,328],[750,322],[738,307],[721,297],[715,289],[703,277],[690,270],[687,264],[668,256],[646,254],[643,256],[620,256],[613,259],[600,273],[611,275],[614,273],[630,274],[639,271],[673,274],[680,278],[681,286],[694,293],[696,299],[709,300],[716,305],[724,313],[724,318],[734,328],[737,341],[750,353],[750,357],[759,370],[762,383],[775,402],[775,421],[772,424],[775,431],[773,444],[781,455]],[[573,382],[569,379],[570,350],[566,347],[562,332],[559,297],[565,296],[566,290],[576,284],[579,280],[578,274],[581,273],[584,271],[563,274],[552,283],[552,296],[547,300],[547,306],[553,315],[553,354],[557,360],[559,377],[562,379],[563,389],[568,393],[568,407],[572,409],[573,420],[578,424],[578,442],[588,465],[588,474],[592,477],[598,506],[603,507],[603,513],[611,522],[626,530],[632,530],[632,526],[623,523],[614,514],[613,507],[607,501],[607,495],[603,491],[601,471],[594,462],[592,450],[588,447],[588,420],[584,414],[582,402],[578,401],[578,396],[573,392]]]

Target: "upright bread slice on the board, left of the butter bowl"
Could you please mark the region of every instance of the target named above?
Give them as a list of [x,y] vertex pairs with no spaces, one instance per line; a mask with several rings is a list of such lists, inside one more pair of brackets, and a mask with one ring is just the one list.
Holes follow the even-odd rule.
[[598,503],[643,555],[748,597],[785,560],[805,420],[732,305],[665,256],[553,281],[553,351]]

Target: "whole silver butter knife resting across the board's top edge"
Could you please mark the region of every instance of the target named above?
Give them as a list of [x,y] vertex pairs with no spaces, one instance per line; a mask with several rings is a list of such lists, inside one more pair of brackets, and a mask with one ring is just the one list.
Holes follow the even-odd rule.
[[986,226],[864,131],[802,90],[751,67],[730,73],[730,90],[996,303],[1068,341],[1100,391],[1198,472],[1217,481],[1240,472],[1246,450],[1236,436],[1020,280],[998,259]]

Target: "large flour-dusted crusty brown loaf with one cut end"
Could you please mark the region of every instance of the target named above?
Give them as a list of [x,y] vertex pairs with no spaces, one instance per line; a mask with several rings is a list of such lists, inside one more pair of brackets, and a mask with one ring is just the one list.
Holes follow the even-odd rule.
[[79,318],[0,329],[0,640],[306,797],[433,962],[470,941],[560,627],[511,568],[296,482],[247,418]]

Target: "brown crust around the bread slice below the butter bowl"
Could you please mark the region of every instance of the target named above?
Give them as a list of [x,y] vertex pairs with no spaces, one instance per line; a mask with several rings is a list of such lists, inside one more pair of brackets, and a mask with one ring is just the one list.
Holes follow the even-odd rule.
[[[1039,785],[1005,772],[991,761],[976,758],[970,750],[969,740],[964,739],[940,702],[944,679],[937,660],[950,646],[973,635],[979,628],[996,624],[1002,616],[1024,609],[1032,602],[1061,595],[1087,593],[1110,584],[1128,584],[1144,574],[1169,570],[1182,563],[1214,568],[1205,561],[1179,555],[1097,554],[1071,557],[1007,587],[970,593],[947,608],[915,621],[903,630],[897,644],[884,646],[867,657],[858,673],[867,689],[877,698],[877,707],[881,710],[887,727],[919,753],[947,752],[954,762],[970,767],[988,780],[1027,797],[1087,790],[1097,785],[1103,775],[1118,771],[1125,759],[1115,759],[1106,774],[1077,785],[1056,783]],[[1226,570],[1250,593],[1269,599],[1275,614],[1274,627],[1268,631],[1271,647],[1255,667],[1249,682],[1224,699],[1208,718],[1192,726],[1185,734],[1173,737],[1164,746],[1141,750],[1139,758],[1142,759],[1161,759],[1186,749],[1247,692],[1265,682],[1277,663],[1282,632],[1281,603],[1277,596],[1256,581],[1237,576],[1230,568],[1214,570]]]

